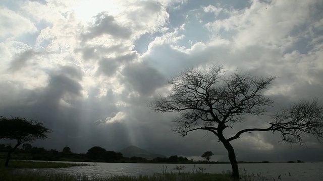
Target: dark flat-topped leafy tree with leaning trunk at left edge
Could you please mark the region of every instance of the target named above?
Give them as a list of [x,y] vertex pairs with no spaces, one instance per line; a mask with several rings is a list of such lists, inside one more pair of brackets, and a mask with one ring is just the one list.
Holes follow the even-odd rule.
[[46,133],[50,130],[35,120],[26,120],[25,118],[12,117],[7,119],[0,117],[0,139],[17,140],[17,144],[9,150],[5,166],[7,167],[10,155],[16,148],[25,142],[33,142],[36,139],[47,138]]

